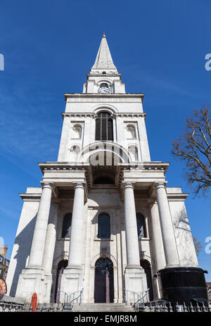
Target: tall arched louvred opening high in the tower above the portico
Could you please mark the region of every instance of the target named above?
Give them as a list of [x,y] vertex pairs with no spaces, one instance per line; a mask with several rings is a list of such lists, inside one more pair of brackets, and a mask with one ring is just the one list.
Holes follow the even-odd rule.
[[113,140],[113,119],[108,112],[98,113],[96,118],[96,140]]

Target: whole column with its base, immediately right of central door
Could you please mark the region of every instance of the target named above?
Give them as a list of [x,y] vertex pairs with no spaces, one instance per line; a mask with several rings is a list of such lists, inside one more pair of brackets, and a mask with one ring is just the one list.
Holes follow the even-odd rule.
[[124,271],[124,284],[127,290],[127,301],[133,301],[133,292],[143,293],[147,289],[146,274],[140,265],[139,239],[136,223],[134,186],[124,184],[124,223],[127,247],[127,266]]

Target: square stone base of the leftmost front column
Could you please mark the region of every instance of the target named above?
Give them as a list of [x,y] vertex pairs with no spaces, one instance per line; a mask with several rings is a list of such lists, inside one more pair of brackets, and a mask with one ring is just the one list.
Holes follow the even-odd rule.
[[25,268],[22,270],[15,296],[31,302],[32,294],[37,293],[37,301],[44,303],[45,275],[41,268]]

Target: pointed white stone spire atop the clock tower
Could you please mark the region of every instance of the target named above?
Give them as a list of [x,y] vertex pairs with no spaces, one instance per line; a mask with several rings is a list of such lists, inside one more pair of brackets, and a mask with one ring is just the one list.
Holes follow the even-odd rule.
[[108,43],[106,41],[106,35],[103,33],[103,37],[101,40],[100,47],[98,49],[98,54],[96,56],[95,63],[91,70],[116,70],[117,68],[115,67],[113,63],[113,59],[110,54],[110,49],[108,47]]

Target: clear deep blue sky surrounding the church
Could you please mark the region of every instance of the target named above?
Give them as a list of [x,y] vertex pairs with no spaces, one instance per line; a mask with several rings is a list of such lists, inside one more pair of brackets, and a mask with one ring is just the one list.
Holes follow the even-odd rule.
[[63,94],[82,92],[103,32],[127,92],[145,94],[143,108],[152,161],[171,162],[170,187],[190,192],[186,209],[203,244],[200,267],[211,281],[211,202],[193,198],[184,165],[171,154],[194,108],[211,104],[209,0],[1,0],[0,237],[11,256],[22,209],[18,193],[39,187],[38,162],[56,161]]

